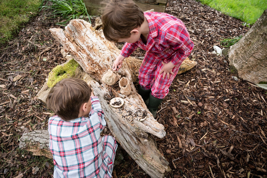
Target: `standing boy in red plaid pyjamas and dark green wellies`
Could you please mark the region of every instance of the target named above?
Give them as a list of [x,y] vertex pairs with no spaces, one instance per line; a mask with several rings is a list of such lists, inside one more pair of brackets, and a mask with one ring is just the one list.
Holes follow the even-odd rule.
[[193,50],[186,27],[170,14],[144,13],[132,0],[111,0],[104,9],[102,22],[105,38],[126,42],[113,63],[114,71],[138,47],[146,50],[139,69],[138,93],[155,117],[181,63]]

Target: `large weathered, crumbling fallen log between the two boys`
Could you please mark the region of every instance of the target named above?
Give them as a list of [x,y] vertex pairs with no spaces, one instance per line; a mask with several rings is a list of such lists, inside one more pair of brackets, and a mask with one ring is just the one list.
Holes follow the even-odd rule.
[[[120,94],[118,87],[99,84],[102,74],[111,69],[120,52],[114,43],[105,40],[101,31],[94,30],[90,23],[81,19],[72,20],[64,31],[55,28],[50,31],[53,37],[62,44],[64,50],[69,52],[80,64],[82,69],[80,68],[80,72],[77,72],[80,74],[75,77],[87,81],[96,96],[99,97],[108,128],[115,139],[151,177],[164,177],[164,174],[170,171],[170,167],[150,136],[153,134],[163,138],[166,134],[164,126],[154,119],[133,85],[138,80],[138,70],[142,61],[133,57],[126,58],[123,67],[118,71],[121,77],[128,78],[131,84],[132,92],[129,96],[125,96]],[[195,66],[195,62],[188,59],[188,63],[184,66],[181,66],[180,69],[189,70]],[[91,78],[85,79],[85,76]],[[89,81],[92,78],[96,81]],[[45,102],[48,92],[49,88],[44,85],[40,94],[38,93],[38,98]],[[111,107],[109,101],[113,97],[123,98],[124,105],[121,108]],[[133,113],[138,109],[147,110],[147,119],[143,122],[134,119]],[[32,133],[23,134],[21,140],[27,137],[32,141],[27,144],[27,139],[24,139],[20,148],[29,149],[33,146],[34,141],[29,139],[29,135]],[[47,139],[49,140],[49,138]],[[41,148],[45,152],[44,147]]]

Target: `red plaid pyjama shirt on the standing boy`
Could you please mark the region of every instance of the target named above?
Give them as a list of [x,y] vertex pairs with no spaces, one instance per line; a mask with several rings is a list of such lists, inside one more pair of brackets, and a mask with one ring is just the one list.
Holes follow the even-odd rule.
[[140,38],[135,43],[125,43],[120,54],[129,57],[138,47],[158,59],[170,59],[174,65],[181,63],[193,50],[194,43],[183,22],[178,18],[159,12],[144,13],[150,32],[147,44]]

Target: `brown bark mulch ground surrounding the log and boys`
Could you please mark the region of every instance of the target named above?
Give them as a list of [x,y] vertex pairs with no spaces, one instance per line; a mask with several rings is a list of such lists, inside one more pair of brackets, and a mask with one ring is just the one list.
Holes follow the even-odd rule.
[[[166,12],[187,26],[195,43],[189,58],[197,61],[175,78],[157,114],[166,136],[155,140],[172,170],[166,177],[267,177],[267,92],[235,80],[228,61],[212,54],[220,39],[244,35],[249,28],[193,0],[169,0]],[[1,177],[52,176],[52,160],[18,144],[23,133],[47,129],[52,112],[36,94],[48,73],[65,62],[48,31],[59,28],[60,20],[41,12],[0,48]],[[150,177],[123,149],[122,154],[115,178]]]

